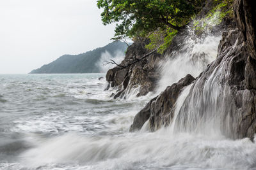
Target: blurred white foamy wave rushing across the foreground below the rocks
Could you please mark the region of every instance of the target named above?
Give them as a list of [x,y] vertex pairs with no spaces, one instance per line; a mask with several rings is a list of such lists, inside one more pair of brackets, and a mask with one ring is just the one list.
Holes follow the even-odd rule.
[[39,143],[24,153],[26,166],[79,164],[92,169],[250,169],[256,145],[211,136],[155,133],[83,137],[67,134]]

